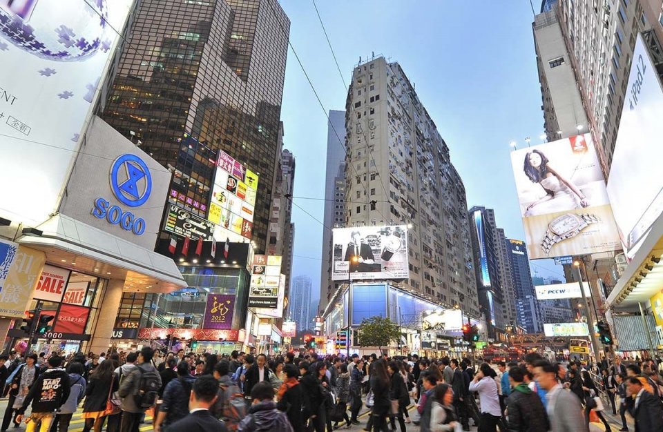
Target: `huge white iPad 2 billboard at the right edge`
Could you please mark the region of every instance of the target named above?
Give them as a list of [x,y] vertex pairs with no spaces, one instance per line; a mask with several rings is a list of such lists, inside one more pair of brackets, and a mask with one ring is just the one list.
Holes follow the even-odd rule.
[[639,34],[608,175],[608,196],[629,258],[663,212],[663,90],[657,74]]

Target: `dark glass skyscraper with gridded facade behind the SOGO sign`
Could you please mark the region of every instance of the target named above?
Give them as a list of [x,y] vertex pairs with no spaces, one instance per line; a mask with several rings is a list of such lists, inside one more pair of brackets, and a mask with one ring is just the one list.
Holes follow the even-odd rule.
[[[164,166],[175,167],[186,132],[260,176],[253,216],[258,253],[267,248],[280,160],[289,27],[277,0],[143,0],[103,115]],[[213,172],[179,179],[178,205],[205,217]]]

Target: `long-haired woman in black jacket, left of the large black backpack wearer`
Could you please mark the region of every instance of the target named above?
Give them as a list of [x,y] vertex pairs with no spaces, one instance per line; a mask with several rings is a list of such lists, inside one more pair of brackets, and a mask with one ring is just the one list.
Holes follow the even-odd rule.
[[85,389],[85,402],[83,403],[83,418],[85,426],[83,432],[94,429],[102,432],[104,420],[106,419],[106,402],[113,393],[117,391],[118,383],[115,380],[112,361],[99,363],[88,377],[88,386]]

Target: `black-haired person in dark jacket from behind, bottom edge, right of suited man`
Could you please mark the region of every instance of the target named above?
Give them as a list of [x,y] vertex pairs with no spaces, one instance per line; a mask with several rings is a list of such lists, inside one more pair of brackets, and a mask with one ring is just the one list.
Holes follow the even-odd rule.
[[251,389],[253,406],[242,420],[238,431],[294,432],[285,413],[276,409],[274,389],[269,382],[259,382]]

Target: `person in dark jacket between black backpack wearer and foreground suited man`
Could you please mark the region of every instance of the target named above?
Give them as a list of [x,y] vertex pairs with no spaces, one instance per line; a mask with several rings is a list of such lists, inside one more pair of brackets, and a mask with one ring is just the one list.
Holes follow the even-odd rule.
[[154,432],[166,429],[189,414],[189,396],[195,379],[186,362],[177,365],[177,378],[171,380],[164,389],[164,399],[154,422]]

